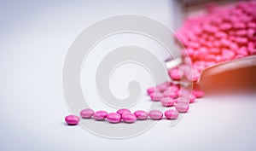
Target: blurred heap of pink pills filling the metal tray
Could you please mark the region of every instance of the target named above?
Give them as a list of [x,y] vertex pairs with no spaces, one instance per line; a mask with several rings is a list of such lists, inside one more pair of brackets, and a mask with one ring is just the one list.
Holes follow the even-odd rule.
[[169,75],[174,80],[186,76],[196,82],[206,67],[256,55],[256,2],[209,5],[205,14],[185,20],[175,38],[187,51],[192,72],[188,76],[184,67],[176,67]]

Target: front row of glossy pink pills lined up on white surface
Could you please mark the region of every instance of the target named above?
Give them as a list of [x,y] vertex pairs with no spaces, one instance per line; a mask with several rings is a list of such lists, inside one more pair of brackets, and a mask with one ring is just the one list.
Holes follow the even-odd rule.
[[[93,118],[100,121],[107,119],[109,123],[113,124],[119,123],[121,120],[125,123],[134,123],[137,119],[148,119],[148,116],[150,119],[160,120],[163,119],[164,115],[166,119],[177,119],[179,113],[175,109],[166,110],[165,113],[162,113],[160,110],[151,110],[148,113],[143,110],[137,110],[131,113],[131,111],[126,108],[121,108],[116,113],[108,113],[106,111],[94,112],[94,110],[90,108],[85,108],[80,112],[80,117],[83,119]],[[67,125],[78,125],[80,118],[77,115],[67,115],[65,121]]]

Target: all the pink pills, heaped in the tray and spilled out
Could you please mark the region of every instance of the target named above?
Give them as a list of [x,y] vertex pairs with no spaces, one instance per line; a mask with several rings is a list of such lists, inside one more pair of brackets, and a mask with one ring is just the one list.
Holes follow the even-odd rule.
[[[231,61],[247,55],[256,55],[256,3],[240,2],[234,5],[217,7],[208,6],[206,13],[185,20],[183,27],[175,33],[175,38],[183,44],[187,54],[185,62],[179,67],[168,70],[170,78],[179,81],[183,76],[196,82],[201,72],[214,64]],[[186,51],[187,53],[185,53]],[[188,64],[192,71],[186,70]],[[162,113],[160,110],[149,112],[121,108],[115,113],[94,111],[90,108],[81,110],[80,117],[67,115],[67,125],[78,125],[80,118],[95,119],[109,123],[134,123],[137,120],[177,119],[179,113],[189,111],[189,103],[204,96],[204,91],[194,85],[189,94],[189,102],[180,97],[181,85],[166,81],[155,87],[148,88],[147,93],[153,102],[160,102],[163,107],[173,107]]]

